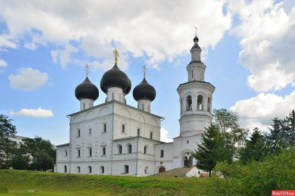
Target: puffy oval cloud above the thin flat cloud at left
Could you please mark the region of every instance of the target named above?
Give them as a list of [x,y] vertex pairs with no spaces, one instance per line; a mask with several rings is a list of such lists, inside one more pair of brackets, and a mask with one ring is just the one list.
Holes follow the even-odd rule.
[[31,67],[20,68],[17,72],[17,75],[11,74],[8,77],[10,86],[14,89],[32,91],[44,85],[48,81],[47,73],[41,73],[39,70]]

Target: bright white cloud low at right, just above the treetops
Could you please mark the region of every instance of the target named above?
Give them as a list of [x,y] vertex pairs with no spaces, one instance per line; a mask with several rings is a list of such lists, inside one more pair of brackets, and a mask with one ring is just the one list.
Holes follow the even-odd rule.
[[260,93],[256,97],[237,101],[230,110],[238,113],[243,127],[266,130],[272,118],[286,118],[294,108],[295,91],[285,97],[273,93]]

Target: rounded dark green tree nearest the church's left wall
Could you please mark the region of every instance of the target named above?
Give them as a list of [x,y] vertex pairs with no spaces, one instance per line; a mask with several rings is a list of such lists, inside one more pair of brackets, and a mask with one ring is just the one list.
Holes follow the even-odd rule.
[[53,168],[56,161],[56,150],[49,140],[35,136],[35,138],[23,139],[23,142],[20,150],[31,156],[31,169],[46,171]]

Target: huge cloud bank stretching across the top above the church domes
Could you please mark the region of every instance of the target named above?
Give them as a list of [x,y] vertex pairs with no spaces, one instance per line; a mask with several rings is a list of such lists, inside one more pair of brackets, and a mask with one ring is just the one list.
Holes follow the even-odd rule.
[[[100,63],[109,59],[114,47],[120,47],[119,53],[144,58],[148,66],[160,69],[163,61],[173,62],[187,55],[193,45],[195,26],[199,27],[199,43],[205,59],[207,48],[214,48],[231,27],[230,12],[225,16],[222,12],[226,2],[118,1],[113,4],[88,0],[58,2],[57,8],[54,1],[25,4],[2,1],[0,13],[15,44],[28,37],[35,45],[50,43],[66,48],[74,42],[86,56],[94,56]],[[68,56],[73,50],[65,49],[64,56],[60,52],[63,67],[71,62]]]

